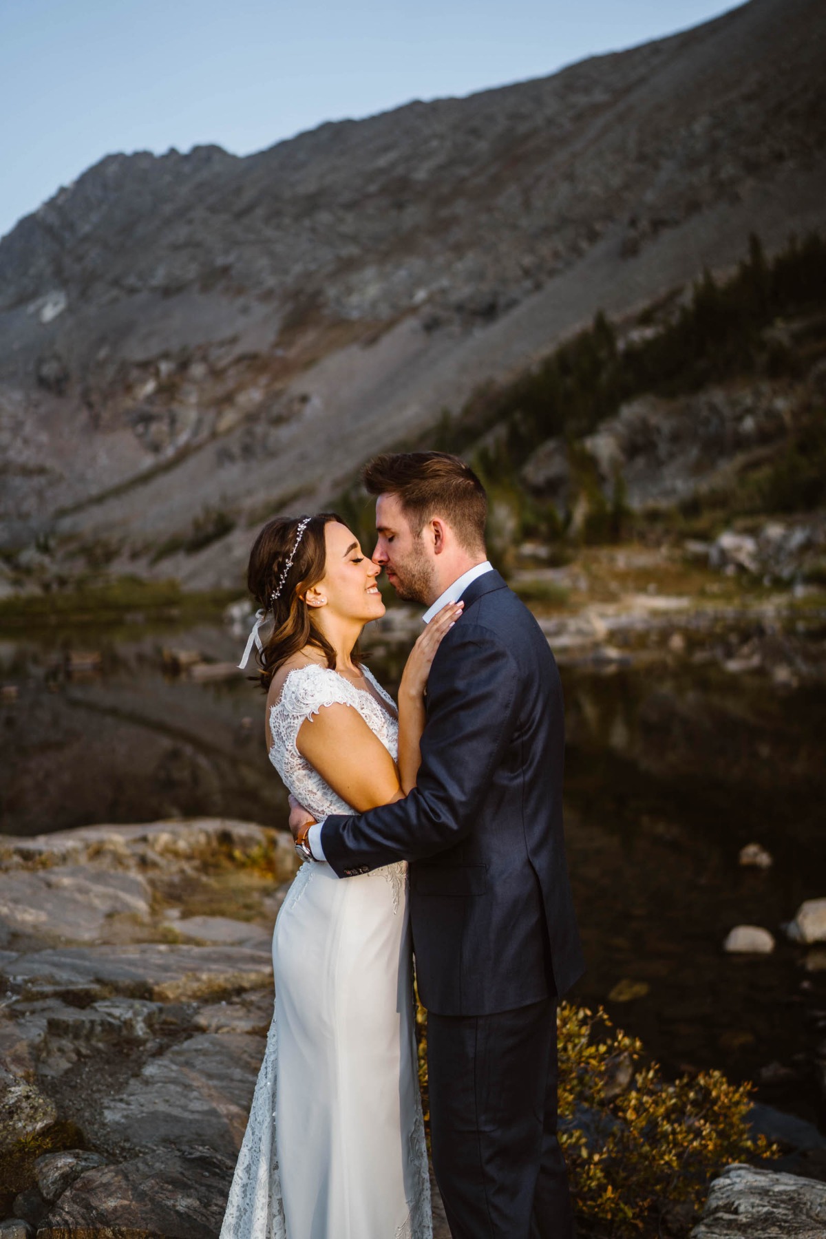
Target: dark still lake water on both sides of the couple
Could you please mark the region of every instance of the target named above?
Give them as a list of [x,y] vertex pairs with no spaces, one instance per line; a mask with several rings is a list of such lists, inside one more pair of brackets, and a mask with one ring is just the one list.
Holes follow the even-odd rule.
[[[372,665],[395,688],[405,646],[373,643]],[[233,662],[239,642],[204,623],[87,629],[57,650],[36,636],[0,646],[2,833],[197,814],[285,824],[263,694],[241,673],[172,673],[165,647]],[[77,657],[88,650],[99,659]],[[826,973],[805,971],[780,926],[826,895],[826,691],[689,662],[611,670],[562,665],[567,838],[588,960],[575,996],[607,1002],[670,1070],[759,1078],[780,1064],[764,1072],[764,1098],[822,1121]],[[738,865],[752,841],[773,855],[768,871]],[[738,923],[770,929],[774,954],[726,957]]]

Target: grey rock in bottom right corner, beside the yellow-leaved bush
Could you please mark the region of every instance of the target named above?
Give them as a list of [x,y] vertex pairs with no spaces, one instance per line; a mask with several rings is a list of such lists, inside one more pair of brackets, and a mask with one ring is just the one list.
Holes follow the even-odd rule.
[[754,1166],[727,1166],[711,1184],[691,1239],[824,1239],[826,1183]]

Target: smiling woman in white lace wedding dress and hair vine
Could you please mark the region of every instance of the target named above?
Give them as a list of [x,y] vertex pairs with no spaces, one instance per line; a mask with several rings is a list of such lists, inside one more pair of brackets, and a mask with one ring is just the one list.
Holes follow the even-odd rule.
[[[332,513],[279,518],[250,553],[270,761],[316,819],[416,783],[424,690],[446,606],[407,659],[399,710],[358,653],[384,615]],[[431,1239],[416,1069],[406,864],[339,880],[298,870],[272,935],[275,1012],[220,1239]]]

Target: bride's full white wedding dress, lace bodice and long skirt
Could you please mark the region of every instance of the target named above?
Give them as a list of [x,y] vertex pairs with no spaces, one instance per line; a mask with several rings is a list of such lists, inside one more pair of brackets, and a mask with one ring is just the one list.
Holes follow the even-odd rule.
[[[270,761],[321,818],[352,813],[301,757],[302,722],[334,703],[391,756],[389,709],[327,668],[287,675]],[[220,1239],[431,1239],[416,1069],[406,865],[338,878],[303,864],[272,934],[275,1014]]]

